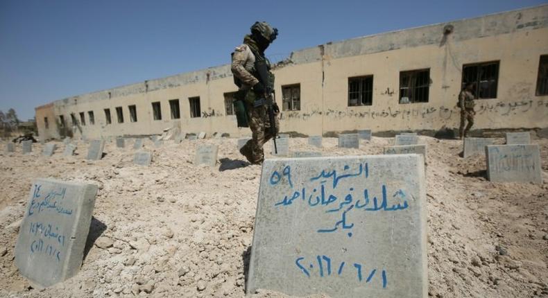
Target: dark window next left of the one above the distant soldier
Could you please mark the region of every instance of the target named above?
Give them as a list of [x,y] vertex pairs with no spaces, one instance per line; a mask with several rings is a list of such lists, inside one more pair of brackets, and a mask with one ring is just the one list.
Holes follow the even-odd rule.
[[[400,104],[428,103],[430,96],[430,69],[400,71]],[[407,100],[402,100],[407,98]]]

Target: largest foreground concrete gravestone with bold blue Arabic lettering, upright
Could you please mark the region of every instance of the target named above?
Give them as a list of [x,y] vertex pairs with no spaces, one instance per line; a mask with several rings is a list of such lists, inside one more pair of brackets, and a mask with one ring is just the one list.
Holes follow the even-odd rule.
[[247,292],[427,297],[422,155],[266,159]]

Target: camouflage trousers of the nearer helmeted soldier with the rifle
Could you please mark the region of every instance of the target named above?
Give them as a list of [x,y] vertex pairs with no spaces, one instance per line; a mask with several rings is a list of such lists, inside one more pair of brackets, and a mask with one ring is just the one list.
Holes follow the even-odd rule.
[[[249,115],[249,128],[251,129],[252,138],[241,148],[241,152],[246,152],[248,160],[252,164],[260,164],[264,161],[264,143],[272,139],[273,134],[269,132],[270,123],[266,105],[253,107],[247,104]],[[275,117],[276,133],[279,131],[280,125],[277,117]]]

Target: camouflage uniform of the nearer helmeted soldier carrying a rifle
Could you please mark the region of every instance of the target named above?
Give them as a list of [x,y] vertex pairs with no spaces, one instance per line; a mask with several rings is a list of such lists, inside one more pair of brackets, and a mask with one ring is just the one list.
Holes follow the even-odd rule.
[[[252,75],[255,72],[255,55],[252,53],[250,46],[241,44],[238,46],[232,55],[232,73],[241,81],[239,92],[245,94],[243,100],[248,111],[249,128],[252,132],[252,139],[244,145],[240,152],[252,164],[262,164],[264,161],[263,146],[268,140],[272,139],[273,135],[269,132],[270,122],[268,121],[267,107],[261,105],[254,107],[255,93],[251,87],[259,80]],[[275,117],[276,133],[280,125],[277,116]]]

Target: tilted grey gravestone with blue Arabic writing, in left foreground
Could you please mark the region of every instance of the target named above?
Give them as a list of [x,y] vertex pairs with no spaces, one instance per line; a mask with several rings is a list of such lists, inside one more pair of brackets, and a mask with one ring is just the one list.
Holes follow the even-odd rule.
[[36,179],[15,246],[15,265],[38,288],[78,273],[97,186]]

